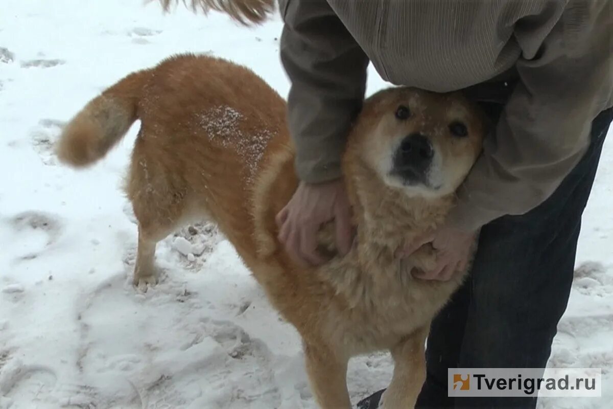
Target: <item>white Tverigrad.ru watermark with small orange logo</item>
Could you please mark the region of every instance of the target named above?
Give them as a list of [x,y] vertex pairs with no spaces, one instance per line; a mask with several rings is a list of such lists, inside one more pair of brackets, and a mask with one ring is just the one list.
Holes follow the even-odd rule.
[[600,368],[450,368],[448,396],[600,397]]

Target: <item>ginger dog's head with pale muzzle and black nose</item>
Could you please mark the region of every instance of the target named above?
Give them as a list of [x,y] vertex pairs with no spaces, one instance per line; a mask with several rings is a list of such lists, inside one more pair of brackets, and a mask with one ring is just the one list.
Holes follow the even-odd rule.
[[482,113],[459,93],[390,88],[365,101],[348,146],[387,186],[436,198],[460,186],[484,133]]

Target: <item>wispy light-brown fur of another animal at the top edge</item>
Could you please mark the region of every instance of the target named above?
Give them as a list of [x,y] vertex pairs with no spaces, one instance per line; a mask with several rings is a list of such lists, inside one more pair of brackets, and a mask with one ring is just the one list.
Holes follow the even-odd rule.
[[210,10],[224,12],[243,25],[260,24],[269,14],[275,11],[276,0],[159,0],[168,10],[170,4],[183,1],[186,6],[191,3],[191,9],[198,9],[205,14]]

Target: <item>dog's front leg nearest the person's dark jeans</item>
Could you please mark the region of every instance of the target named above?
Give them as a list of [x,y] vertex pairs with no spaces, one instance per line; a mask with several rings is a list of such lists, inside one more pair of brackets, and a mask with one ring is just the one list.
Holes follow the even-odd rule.
[[384,409],[414,408],[425,381],[425,338],[430,325],[424,326],[391,349],[394,375],[383,394]]

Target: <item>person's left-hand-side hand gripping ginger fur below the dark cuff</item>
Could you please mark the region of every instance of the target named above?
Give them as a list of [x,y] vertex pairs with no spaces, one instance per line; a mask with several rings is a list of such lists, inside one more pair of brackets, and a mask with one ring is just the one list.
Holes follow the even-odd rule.
[[317,251],[317,232],[322,224],[334,220],[337,249],[345,255],[351,247],[351,209],[345,183],[309,184],[300,182],[294,196],[276,215],[278,239],[298,262],[319,265],[326,260]]

